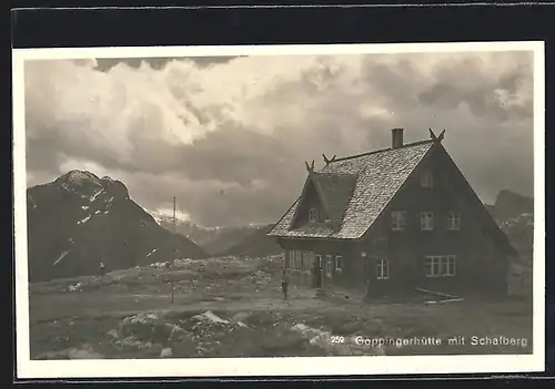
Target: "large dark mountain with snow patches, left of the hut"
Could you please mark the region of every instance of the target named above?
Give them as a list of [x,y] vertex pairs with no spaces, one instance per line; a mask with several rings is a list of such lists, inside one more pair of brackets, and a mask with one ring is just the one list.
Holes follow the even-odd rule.
[[29,278],[47,280],[208,254],[172,234],[130,198],[127,186],[71,171],[27,190]]

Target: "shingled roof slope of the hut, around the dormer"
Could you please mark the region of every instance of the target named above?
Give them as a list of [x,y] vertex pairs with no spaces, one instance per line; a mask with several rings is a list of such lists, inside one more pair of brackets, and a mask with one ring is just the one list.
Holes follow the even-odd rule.
[[427,140],[330,161],[320,172],[311,172],[306,180],[319,188],[331,223],[294,227],[292,223],[300,196],[268,235],[334,239],[362,237],[433,144],[434,140]]

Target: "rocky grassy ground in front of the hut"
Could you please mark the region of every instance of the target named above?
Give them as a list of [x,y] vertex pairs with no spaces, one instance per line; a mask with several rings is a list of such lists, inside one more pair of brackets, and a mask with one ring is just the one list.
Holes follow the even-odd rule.
[[[313,289],[293,287],[284,301],[281,266],[280,256],[183,259],[172,269],[153,264],[31,284],[31,358],[532,352],[527,298],[387,304],[339,289],[314,298]],[[405,344],[357,345],[357,336]],[[455,336],[465,344],[450,345]],[[473,336],[526,345],[473,346]],[[415,338],[441,344],[410,344]]]

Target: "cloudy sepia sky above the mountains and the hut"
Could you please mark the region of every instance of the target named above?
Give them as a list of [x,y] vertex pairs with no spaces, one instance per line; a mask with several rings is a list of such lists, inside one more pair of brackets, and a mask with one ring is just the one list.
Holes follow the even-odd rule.
[[304,161],[445,129],[484,202],[533,193],[531,52],[26,63],[28,185],[73,168],[199,224],[275,222]]

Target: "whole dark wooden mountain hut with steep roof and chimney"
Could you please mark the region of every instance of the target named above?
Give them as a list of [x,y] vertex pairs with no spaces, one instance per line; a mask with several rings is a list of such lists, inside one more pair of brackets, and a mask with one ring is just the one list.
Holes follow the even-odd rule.
[[391,296],[415,288],[505,295],[516,252],[442,140],[306,164],[302,193],[269,232],[293,281]]

